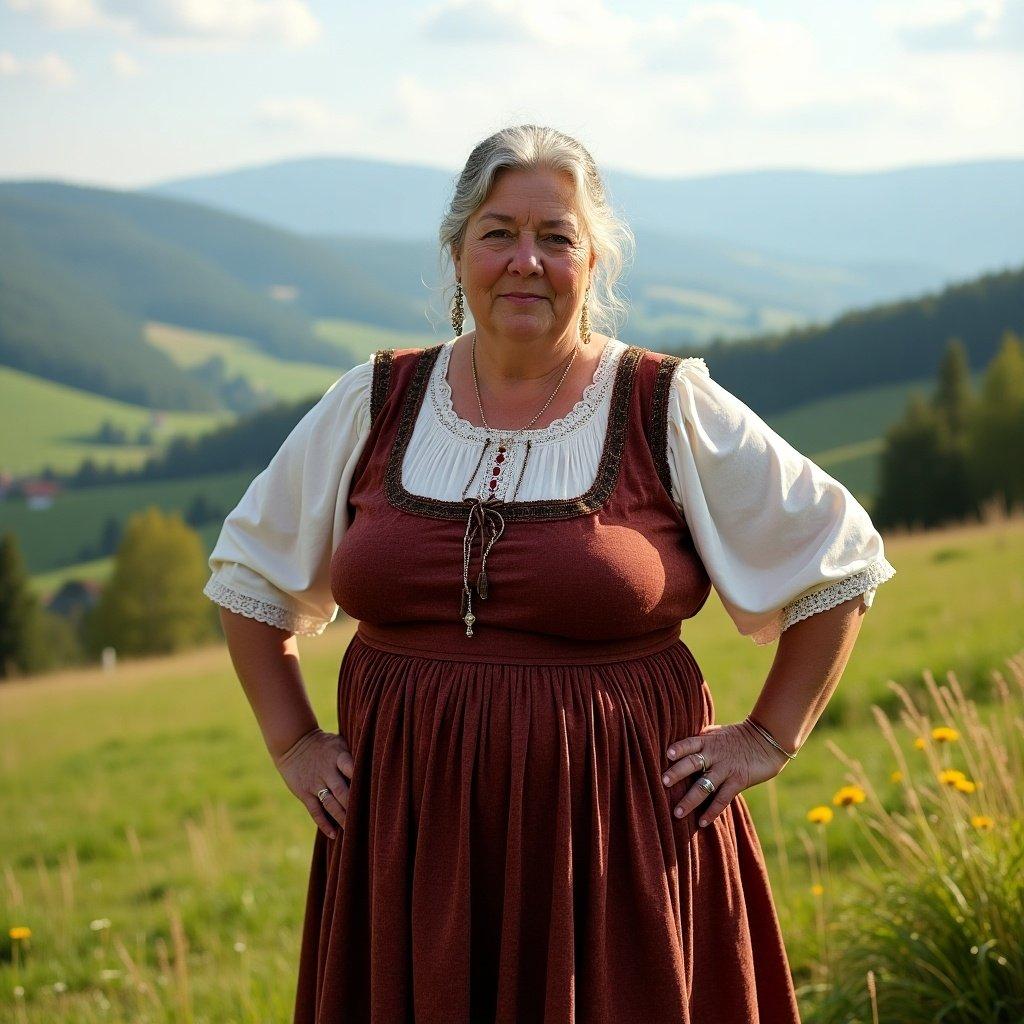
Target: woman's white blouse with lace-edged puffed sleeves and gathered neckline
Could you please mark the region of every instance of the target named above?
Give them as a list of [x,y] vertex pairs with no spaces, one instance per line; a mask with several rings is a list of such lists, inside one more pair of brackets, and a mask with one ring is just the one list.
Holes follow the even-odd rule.
[[[455,339],[434,362],[402,466],[402,484],[445,501],[483,494],[473,476],[487,431],[461,419],[446,374]],[[574,498],[597,474],[618,358],[611,339],[572,410],[529,430],[530,457],[513,445],[498,497]],[[370,430],[373,357],[328,388],[224,520],[204,593],[289,632],[315,636],[338,614],[331,555],[347,523],[352,473]],[[703,359],[683,359],[669,396],[672,494],[712,585],[738,632],[757,644],[857,595],[870,605],[895,575],[865,509],[752,409],[714,381]],[[472,478],[472,479],[471,479]],[[511,488],[509,495],[506,488]]]

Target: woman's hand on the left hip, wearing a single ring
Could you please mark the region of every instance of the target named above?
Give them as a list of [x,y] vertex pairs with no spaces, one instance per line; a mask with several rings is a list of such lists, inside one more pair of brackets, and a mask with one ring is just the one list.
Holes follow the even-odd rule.
[[[345,827],[348,791],[355,766],[344,737],[321,728],[312,729],[300,736],[280,758],[274,758],[273,763],[289,790],[305,805],[319,830],[328,839],[337,839],[335,823]],[[349,781],[345,780],[346,776]],[[321,803],[316,794],[325,786],[331,792]]]

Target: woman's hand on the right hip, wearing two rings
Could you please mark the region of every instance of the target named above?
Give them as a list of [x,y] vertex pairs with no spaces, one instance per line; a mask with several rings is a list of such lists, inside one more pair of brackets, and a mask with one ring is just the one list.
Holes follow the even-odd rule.
[[[699,751],[708,763],[701,770]],[[675,764],[665,773],[666,787],[698,772],[715,783],[714,800],[700,815],[699,825],[709,825],[729,806],[741,790],[774,778],[790,763],[780,751],[768,743],[757,729],[745,722],[732,725],[709,725],[699,735],[677,739],[666,752]],[[676,805],[675,814],[683,817],[708,799],[708,794],[694,784]]]

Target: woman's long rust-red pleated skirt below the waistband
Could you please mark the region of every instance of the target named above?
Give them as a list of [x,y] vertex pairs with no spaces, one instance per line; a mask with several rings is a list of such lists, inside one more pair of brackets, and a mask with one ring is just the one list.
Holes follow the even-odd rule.
[[713,798],[672,813],[696,774],[662,781],[714,719],[678,634],[536,665],[356,633],[347,819],[313,842],[296,1024],[799,1022],[742,794],[698,828]]

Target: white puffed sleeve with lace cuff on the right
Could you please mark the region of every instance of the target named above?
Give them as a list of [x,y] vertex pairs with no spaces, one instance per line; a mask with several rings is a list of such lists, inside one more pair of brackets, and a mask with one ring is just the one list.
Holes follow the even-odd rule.
[[712,586],[756,644],[858,595],[870,605],[895,575],[863,506],[697,356],[672,378],[668,458]]

